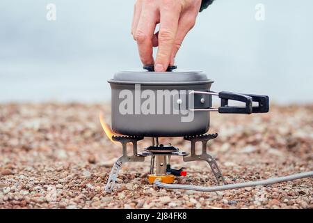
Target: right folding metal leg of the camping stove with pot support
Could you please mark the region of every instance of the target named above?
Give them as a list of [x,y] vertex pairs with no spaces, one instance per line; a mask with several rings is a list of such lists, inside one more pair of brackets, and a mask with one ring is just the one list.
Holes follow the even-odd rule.
[[[218,185],[220,183],[225,184],[225,180],[223,177],[223,174],[221,173],[220,169],[218,168],[218,164],[214,157],[209,155],[207,153],[207,142],[210,139],[215,139],[218,136],[218,134],[202,134],[200,136],[195,136],[195,137],[184,137],[185,140],[191,141],[191,155],[184,156],[184,162],[191,162],[191,161],[197,161],[197,160],[203,160],[207,161],[213,171],[213,174],[216,178],[216,182]],[[197,141],[202,142],[202,154],[201,155],[196,155],[195,154],[195,143]]]

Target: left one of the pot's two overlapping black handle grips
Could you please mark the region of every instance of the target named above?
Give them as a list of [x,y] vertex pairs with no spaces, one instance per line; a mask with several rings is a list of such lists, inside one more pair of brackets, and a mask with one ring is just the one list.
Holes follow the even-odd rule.
[[[218,113],[232,113],[232,114],[251,114],[252,113],[252,97],[249,95],[243,95],[241,93],[232,93],[227,91],[221,91],[218,93],[220,98],[220,107]],[[245,107],[229,106],[228,100],[236,100],[239,102],[245,102]]]

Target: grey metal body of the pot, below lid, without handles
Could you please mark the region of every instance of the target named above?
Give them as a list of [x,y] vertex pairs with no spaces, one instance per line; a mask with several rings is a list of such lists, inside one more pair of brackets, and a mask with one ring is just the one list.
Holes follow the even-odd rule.
[[[193,112],[193,107],[211,107],[211,95],[191,95],[209,91],[212,81],[198,84],[125,84],[110,82],[112,130],[143,137],[183,137],[209,130],[209,112]],[[150,102],[150,103],[149,103]]]

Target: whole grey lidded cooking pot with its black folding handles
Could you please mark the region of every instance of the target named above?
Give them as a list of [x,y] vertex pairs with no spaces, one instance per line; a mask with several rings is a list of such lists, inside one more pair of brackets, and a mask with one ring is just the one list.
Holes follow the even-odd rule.
[[[123,70],[115,73],[111,85],[112,130],[143,137],[184,137],[209,130],[210,112],[251,114],[268,112],[268,96],[211,91],[213,81],[202,71],[154,72]],[[220,107],[212,107],[212,96]],[[242,102],[230,106],[229,100]],[[257,106],[252,106],[257,102]]]

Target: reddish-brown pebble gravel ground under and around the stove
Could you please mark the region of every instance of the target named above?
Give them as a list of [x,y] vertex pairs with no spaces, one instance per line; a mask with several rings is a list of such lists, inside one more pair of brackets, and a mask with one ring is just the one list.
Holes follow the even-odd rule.
[[[125,164],[118,189],[104,192],[122,153],[99,124],[109,105],[0,105],[0,208],[313,208],[313,179],[223,192],[165,190],[147,183],[150,160]],[[211,114],[209,149],[227,183],[313,169],[313,105],[279,107],[268,114]],[[139,143],[140,150],[151,139]],[[160,139],[189,151],[182,138]],[[214,185],[206,162],[182,162],[176,183]]]

